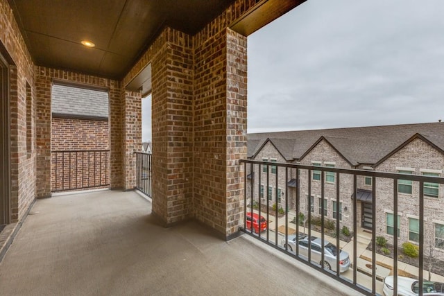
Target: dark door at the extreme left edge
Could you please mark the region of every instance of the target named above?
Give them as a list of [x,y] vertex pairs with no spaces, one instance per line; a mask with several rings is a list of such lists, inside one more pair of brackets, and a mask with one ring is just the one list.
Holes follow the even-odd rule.
[[9,223],[9,76],[0,54],[0,225]]

